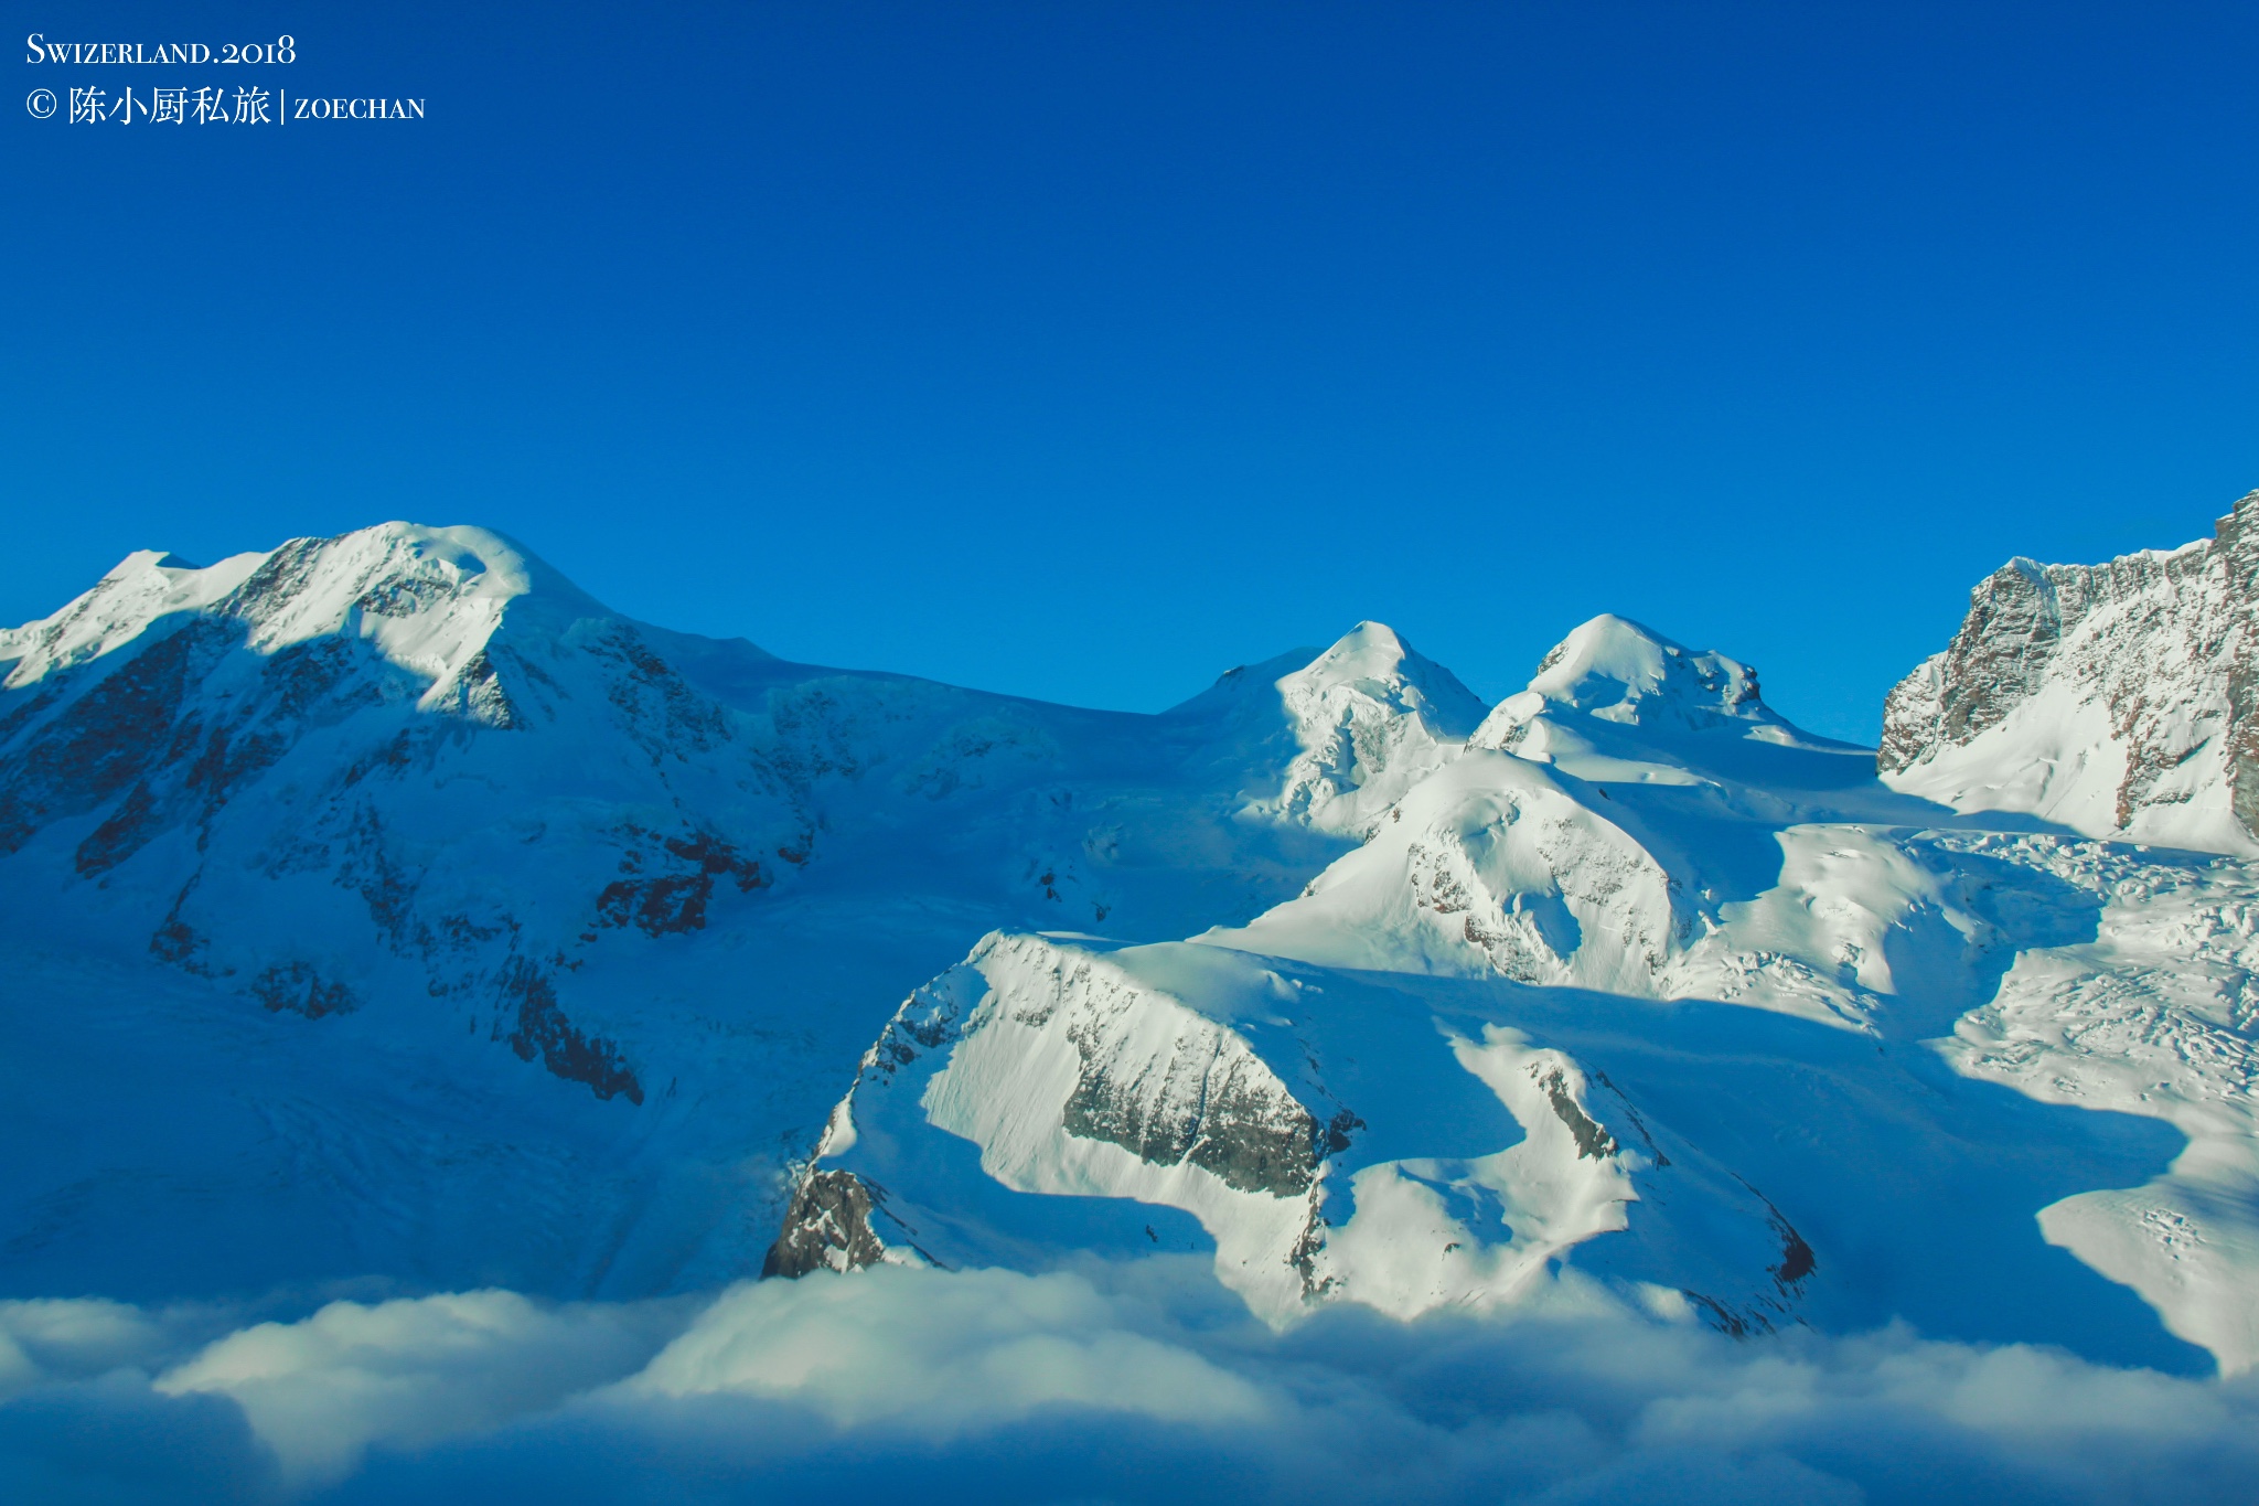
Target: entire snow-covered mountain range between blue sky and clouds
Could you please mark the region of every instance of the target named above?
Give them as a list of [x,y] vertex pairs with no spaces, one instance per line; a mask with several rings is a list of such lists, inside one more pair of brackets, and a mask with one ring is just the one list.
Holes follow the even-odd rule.
[[1202,1251],[1279,1325],[2248,1368],[2259,869],[2171,822],[2232,817],[2254,506],[1995,576],[1879,779],[1620,616],[1495,707],[1360,623],[1127,716],[633,623],[477,528],[133,555],[0,634],[0,1282]]

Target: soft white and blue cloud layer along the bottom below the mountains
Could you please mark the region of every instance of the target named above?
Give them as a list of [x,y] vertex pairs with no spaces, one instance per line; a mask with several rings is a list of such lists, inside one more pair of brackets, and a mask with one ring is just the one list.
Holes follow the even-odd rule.
[[[258,1319],[258,1321],[255,1321]],[[1572,1278],[1274,1334],[1204,1258],[651,1303],[0,1303],[0,1499],[2250,1501],[2259,1384],[1891,1328],[1726,1339]]]

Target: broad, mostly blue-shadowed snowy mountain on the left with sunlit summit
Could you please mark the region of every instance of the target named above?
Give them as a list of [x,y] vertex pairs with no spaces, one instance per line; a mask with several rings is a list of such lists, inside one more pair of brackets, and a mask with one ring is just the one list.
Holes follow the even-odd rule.
[[[251,1271],[644,1292],[757,1267],[784,1165],[892,1000],[994,926],[1166,937],[1292,894],[1344,842],[1249,806],[1279,804],[1328,716],[1383,743],[1416,716],[1326,704],[1331,671],[1294,716],[1270,686],[1267,707],[1224,689],[1123,716],[795,666],[621,619],[499,535],[409,524],[210,569],[133,555],[0,655],[16,1014],[93,993],[156,1054],[131,1093],[68,1036],[16,1061],[84,1104],[0,1176],[9,1278],[176,1294]],[[1394,695],[1387,666],[1342,675]],[[258,1043],[167,1082],[187,1016]],[[332,1102],[373,1059],[395,1086]],[[461,1147],[513,1140],[520,1109],[463,1142],[445,1104],[497,1070],[540,1077],[501,1102],[553,1104],[558,1138],[515,1158],[558,1206],[477,1231],[411,1212],[490,1192]],[[258,1111],[158,1172],[158,1127],[210,1120],[192,1072]],[[416,1104],[461,1170],[400,1165]],[[93,1154],[75,1115],[120,1133]],[[244,1208],[309,1158],[400,1179],[398,1217],[278,1242]],[[574,1190],[590,1158],[669,1170]],[[567,1215],[576,1249],[551,1233]],[[208,1255],[147,1246],[151,1219],[197,1224]]]

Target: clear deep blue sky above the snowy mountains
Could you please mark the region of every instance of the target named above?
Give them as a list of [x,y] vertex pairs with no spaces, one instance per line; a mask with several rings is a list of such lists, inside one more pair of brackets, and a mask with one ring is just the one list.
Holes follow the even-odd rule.
[[[18,5],[409,124],[0,154],[0,619],[411,517],[1157,709],[1613,610],[1873,738],[2013,553],[2259,485],[2259,7]],[[244,84],[248,70],[174,70]]]

